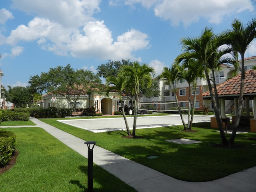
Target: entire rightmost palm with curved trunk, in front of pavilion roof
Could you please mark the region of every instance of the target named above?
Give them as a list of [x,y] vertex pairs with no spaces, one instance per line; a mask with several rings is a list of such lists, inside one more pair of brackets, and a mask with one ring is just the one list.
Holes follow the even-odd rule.
[[234,19],[231,27],[232,29],[223,32],[223,36],[226,37],[226,43],[232,46],[233,50],[238,52],[241,56],[241,84],[238,99],[238,110],[236,114],[234,129],[229,140],[231,144],[234,144],[236,130],[239,125],[240,116],[242,114],[242,104],[244,97],[244,54],[252,40],[256,38],[256,18],[248,22],[247,25],[243,25],[240,20]]

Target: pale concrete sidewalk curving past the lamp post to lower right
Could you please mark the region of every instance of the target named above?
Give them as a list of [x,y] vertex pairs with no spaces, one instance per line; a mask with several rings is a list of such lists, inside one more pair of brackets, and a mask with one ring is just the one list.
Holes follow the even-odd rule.
[[[31,118],[30,120],[87,158],[87,146],[84,144],[84,140],[36,118]],[[210,182],[185,182],[176,180],[98,146],[94,147],[93,162],[134,187],[138,192],[256,191],[256,167]]]

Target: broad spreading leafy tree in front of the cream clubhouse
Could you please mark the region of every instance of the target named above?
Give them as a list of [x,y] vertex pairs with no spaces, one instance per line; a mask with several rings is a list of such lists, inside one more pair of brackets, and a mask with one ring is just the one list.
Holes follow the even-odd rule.
[[48,92],[64,96],[73,110],[76,111],[76,101],[81,95],[102,90],[101,80],[92,71],[74,70],[70,64],[50,68],[48,72],[42,72],[40,76],[30,77],[30,88],[37,92]]

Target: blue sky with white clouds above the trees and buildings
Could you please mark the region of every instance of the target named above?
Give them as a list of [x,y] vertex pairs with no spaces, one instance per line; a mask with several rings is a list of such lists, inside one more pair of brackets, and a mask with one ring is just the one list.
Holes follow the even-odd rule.
[[[182,37],[256,17],[252,0],[0,0],[0,68],[5,87],[70,64],[96,73],[130,59],[157,74],[181,53]],[[256,55],[256,41],[245,57]]]

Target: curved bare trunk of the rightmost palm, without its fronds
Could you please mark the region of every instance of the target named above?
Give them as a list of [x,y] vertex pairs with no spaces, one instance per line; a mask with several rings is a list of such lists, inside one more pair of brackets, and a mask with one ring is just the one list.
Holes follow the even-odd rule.
[[236,137],[236,131],[237,127],[239,125],[240,117],[242,116],[242,109],[243,109],[243,100],[244,100],[244,78],[245,78],[245,71],[244,71],[244,55],[241,55],[241,83],[240,83],[240,94],[239,94],[239,99],[238,99],[238,109],[236,113],[236,121],[234,124],[234,128],[232,131],[232,134],[229,139],[230,145],[234,145],[234,140]]

